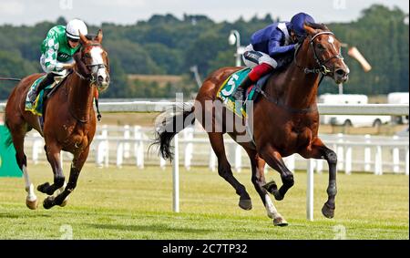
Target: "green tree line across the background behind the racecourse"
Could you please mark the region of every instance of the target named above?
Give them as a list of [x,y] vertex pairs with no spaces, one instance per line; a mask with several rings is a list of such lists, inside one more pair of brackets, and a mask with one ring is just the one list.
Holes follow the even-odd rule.
[[[351,76],[344,85],[344,93],[367,95],[408,91],[408,14],[395,7],[372,5],[350,23],[326,24],[344,43],[356,46],[372,65],[364,73],[360,65],[347,56]],[[249,21],[216,23],[205,15],[152,15],[147,21],[121,26],[103,23],[88,26],[90,33],[104,32],[103,46],[107,49],[112,83],[104,98],[167,98],[175,92],[194,93],[198,86],[190,72],[197,66],[205,78],[220,67],[233,66],[236,46],[228,44],[231,30],[241,34],[241,45],[249,44],[251,34],[278,18],[254,16]],[[320,22],[320,21],[318,21]],[[42,22],[35,26],[0,26],[0,77],[25,77],[42,72],[39,66],[40,45],[46,32],[55,25],[65,25],[60,17],[56,22]],[[128,74],[180,75],[178,84],[159,87],[156,83],[129,80]],[[15,83],[0,81],[0,99],[8,97]],[[325,79],[319,93],[337,92],[337,86]]]

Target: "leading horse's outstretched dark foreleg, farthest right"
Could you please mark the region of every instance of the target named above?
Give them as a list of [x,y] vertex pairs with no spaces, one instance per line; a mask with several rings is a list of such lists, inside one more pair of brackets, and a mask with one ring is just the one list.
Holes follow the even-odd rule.
[[305,159],[324,159],[327,161],[329,165],[329,185],[327,187],[327,195],[328,199],[324,203],[322,208],[322,213],[326,218],[333,218],[334,216],[334,209],[335,209],[335,197],[337,193],[336,187],[336,164],[337,164],[337,156],[333,150],[327,148],[321,139],[315,139],[312,144],[311,150],[305,150],[300,153],[303,158]]

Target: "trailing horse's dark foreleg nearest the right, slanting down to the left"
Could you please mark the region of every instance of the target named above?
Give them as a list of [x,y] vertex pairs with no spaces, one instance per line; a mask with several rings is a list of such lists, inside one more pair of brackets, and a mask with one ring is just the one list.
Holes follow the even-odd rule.
[[78,176],[81,172],[81,169],[84,166],[84,163],[87,160],[88,151],[89,151],[89,146],[87,147],[87,149],[83,150],[82,152],[74,156],[74,159],[71,163],[70,177],[68,179],[66,188],[56,197],[49,196],[48,198],[46,198],[46,200],[43,203],[44,208],[50,209],[51,207],[55,205],[60,205],[60,206],[64,205],[63,203],[64,201],[67,200],[67,196],[72,191],[74,191],[74,189],[77,186]]

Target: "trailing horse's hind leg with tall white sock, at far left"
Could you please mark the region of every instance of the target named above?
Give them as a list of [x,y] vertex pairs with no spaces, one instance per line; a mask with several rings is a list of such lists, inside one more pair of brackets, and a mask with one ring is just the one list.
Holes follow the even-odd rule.
[[20,170],[23,171],[23,177],[25,178],[26,182],[26,205],[29,209],[36,210],[38,201],[36,193],[34,191],[33,183],[30,181],[30,178],[28,176],[27,158],[24,148],[26,135],[25,123],[21,121],[18,126],[9,123],[8,126],[12,135],[13,144],[15,145],[15,160],[17,160],[17,164]]

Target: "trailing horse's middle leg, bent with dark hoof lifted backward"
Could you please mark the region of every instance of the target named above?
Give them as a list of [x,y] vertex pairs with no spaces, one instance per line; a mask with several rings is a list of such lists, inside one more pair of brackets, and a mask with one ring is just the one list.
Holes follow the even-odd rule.
[[[49,140],[47,140],[49,142]],[[65,177],[63,169],[61,168],[60,151],[61,148],[55,143],[46,144],[46,157],[51,165],[54,174],[54,183],[45,182],[37,187],[38,191],[44,192],[48,195],[52,195],[57,189],[64,186]]]

